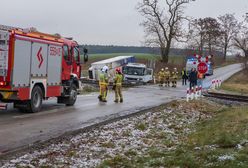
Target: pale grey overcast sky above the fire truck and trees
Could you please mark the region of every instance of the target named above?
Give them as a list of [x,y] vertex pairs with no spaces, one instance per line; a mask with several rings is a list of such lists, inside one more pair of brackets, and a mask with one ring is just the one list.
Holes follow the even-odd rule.
[[[0,0],[0,24],[36,27],[47,33],[73,37],[81,44],[142,45],[142,0]],[[248,0],[196,0],[186,14],[217,17],[248,12]]]

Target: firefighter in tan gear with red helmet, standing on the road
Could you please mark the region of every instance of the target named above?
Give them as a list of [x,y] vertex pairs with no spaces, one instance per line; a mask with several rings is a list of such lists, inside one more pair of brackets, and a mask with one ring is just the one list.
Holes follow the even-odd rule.
[[116,68],[116,75],[114,78],[114,86],[113,90],[115,90],[115,103],[123,102],[123,96],[122,96],[122,81],[123,81],[123,74],[121,73],[120,68]]

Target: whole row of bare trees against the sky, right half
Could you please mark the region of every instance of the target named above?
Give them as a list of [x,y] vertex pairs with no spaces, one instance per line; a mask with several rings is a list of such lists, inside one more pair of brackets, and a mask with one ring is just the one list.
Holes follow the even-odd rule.
[[185,16],[184,10],[193,1],[142,0],[137,10],[144,17],[141,26],[146,45],[159,47],[161,60],[165,63],[168,63],[173,44],[184,44],[200,55],[205,51],[210,55],[219,51],[224,60],[229,50],[237,49],[248,58],[247,17],[243,21],[238,21],[235,14],[190,18]]

